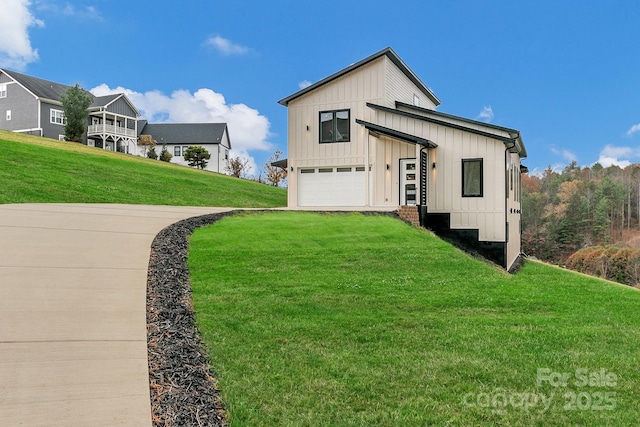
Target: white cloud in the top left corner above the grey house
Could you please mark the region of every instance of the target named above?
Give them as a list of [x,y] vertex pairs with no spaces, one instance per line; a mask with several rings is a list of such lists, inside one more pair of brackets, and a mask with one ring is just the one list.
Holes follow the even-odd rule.
[[2,0],[0,13],[0,67],[23,70],[38,60],[38,50],[31,47],[29,28],[43,27],[29,10],[30,0]]

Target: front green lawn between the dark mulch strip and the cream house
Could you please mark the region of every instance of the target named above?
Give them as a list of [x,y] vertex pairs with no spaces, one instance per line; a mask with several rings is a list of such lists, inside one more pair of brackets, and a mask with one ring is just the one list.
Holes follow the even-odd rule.
[[[192,236],[189,266],[232,426],[640,419],[634,289],[536,262],[510,276],[361,214],[225,218]],[[538,386],[539,368],[571,378]],[[581,386],[577,369],[616,384]]]

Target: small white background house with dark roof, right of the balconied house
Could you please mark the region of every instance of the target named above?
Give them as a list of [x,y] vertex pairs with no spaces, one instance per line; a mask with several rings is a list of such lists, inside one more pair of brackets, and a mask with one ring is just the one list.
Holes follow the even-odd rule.
[[192,145],[203,146],[211,158],[206,170],[224,173],[229,159],[231,141],[226,123],[147,123],[140,120],[138,135],[151,135],[157,142],[156,153],[160,154],[163,145],[173,156],[171,163],[188,165],[184,152]]

